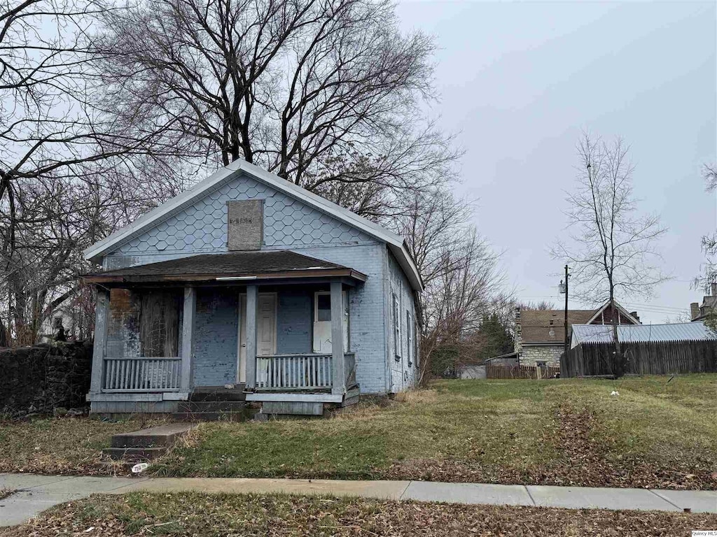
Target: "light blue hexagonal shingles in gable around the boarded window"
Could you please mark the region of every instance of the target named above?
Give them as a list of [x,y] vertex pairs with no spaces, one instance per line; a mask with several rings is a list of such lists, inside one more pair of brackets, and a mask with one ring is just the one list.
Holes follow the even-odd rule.
[[[264,246],[296,248],[372,241],[366,233],[243,173],[108,255],[106,268],[164,261],[166,256],[227,251],[227,201],[263,199]],[[158,256],[143,261],[146,256]],[[162,257],[162,259],[159,258]]]

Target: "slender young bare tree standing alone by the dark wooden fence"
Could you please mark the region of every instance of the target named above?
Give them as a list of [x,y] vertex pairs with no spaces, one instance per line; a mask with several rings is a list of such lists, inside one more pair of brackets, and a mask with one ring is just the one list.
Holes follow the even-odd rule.
[[622,375],[616,296],[649,296],[667,276],[657,240],[666,229],[654,215],[640,215],[632,190],[634,166],[619,138],[608,144],[584,134],[577,147],[576,188],[568,193],[571,242],[558,241],[554,257],[571,266],[574,296],[590,304],[609,301],[615,342],[614,373]]

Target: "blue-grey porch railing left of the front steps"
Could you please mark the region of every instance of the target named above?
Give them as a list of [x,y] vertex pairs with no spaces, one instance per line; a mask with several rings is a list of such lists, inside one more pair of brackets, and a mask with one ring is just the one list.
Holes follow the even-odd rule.
[[106,357],[103,392],[176,392],[181,383],[179,357]]

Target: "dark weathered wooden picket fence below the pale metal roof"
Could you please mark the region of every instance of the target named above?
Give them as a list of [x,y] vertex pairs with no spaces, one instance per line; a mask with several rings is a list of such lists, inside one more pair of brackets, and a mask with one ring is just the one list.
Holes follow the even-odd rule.
[[640,342],[622,344],[617,364],[612,343],[583,343],[560,357],[561,377],[615,374],[717,372],[717,341]]

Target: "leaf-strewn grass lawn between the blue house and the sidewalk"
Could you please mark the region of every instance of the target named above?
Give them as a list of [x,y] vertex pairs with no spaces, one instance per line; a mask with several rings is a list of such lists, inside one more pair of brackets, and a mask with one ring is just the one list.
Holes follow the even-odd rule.
[[[610,392],[617,390],[618,396]],[[443,380],[331,419],[201,424],[155,475],[717,488],[717,375]],[[110,473],[137,422],[0,424],[1,471]]]

